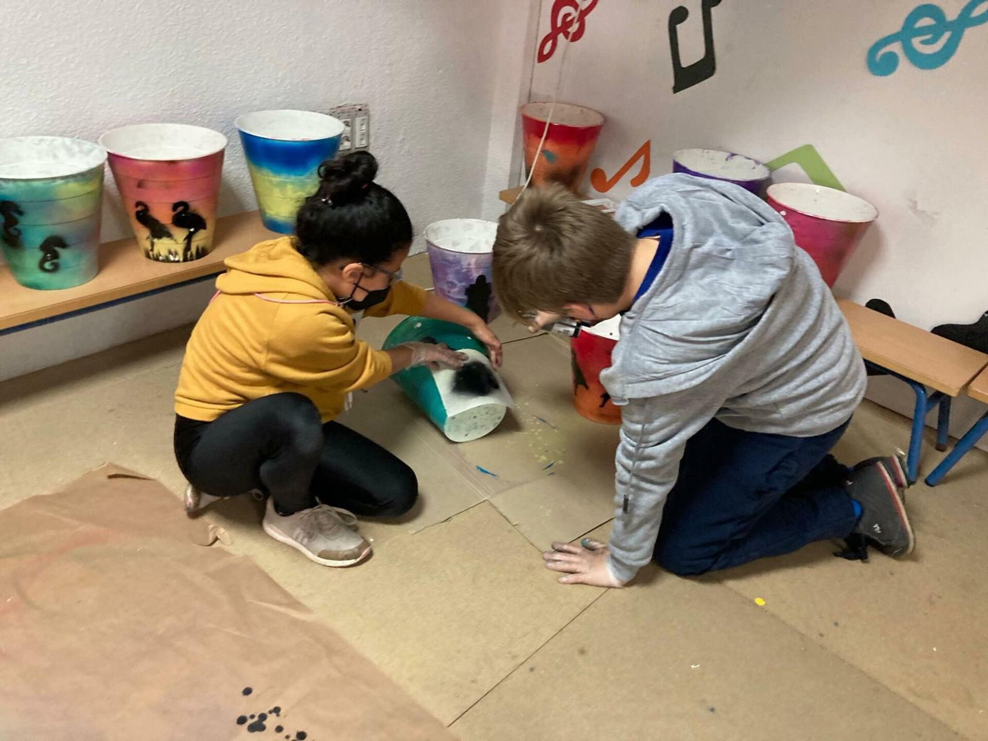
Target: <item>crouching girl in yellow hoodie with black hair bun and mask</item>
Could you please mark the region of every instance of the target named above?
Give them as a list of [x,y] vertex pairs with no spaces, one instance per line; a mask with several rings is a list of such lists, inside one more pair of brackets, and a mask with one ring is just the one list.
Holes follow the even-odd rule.
[[368,152],[324,162],[295,236],[226,261],[175,394],[186,509],[268,494],[265,532],[327,566],[371,553],[351,513],[395,517],[418,496],[411,468],[334,417],[353,391],[393,372],[463,362],[441,345],[373,350],[355,337],[355,321],[395,313],[452,321],[487,345],[495,366],[501,360],[480,317],[401,281],[412,224],[373,182],[376,172]]

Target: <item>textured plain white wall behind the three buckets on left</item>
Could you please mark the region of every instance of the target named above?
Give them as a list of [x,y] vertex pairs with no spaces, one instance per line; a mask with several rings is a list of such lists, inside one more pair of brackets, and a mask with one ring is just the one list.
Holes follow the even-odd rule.
[[[371,106],[379,181],[430,221],[479,216],[495,85],[519,97],[521,72],[496,82],[497,58],[524,55],[530,0],[239,0],[11,3],[3,13],[0,136],[96,140],[124,124],[177,122],[229,138],[220,214],[256,207],[237,115],[265,108]],[[526,21],[527,23],[527,21]],[[526,90],[528,80],[525,80]],[[516,87],[514,92],[512,86]],[[504,137],[504,124],[498,135]],[[503,186],[502,186],[503,187]],[[109,177],[103,240],[128,235]],[[162,296],[0,337],[0,378],[193,321],[207,288]]]

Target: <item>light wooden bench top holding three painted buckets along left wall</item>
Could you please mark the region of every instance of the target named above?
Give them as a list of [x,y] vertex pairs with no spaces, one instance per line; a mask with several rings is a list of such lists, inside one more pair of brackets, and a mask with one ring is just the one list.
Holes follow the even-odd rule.
[[212,252],[191,263],[148,260],[133,238],[106,242],[96,278],[63,290],[24,288],[7,266],[0,267],[0,331],[222,273],[226,258],[278,236],[255,210],[216,219]]

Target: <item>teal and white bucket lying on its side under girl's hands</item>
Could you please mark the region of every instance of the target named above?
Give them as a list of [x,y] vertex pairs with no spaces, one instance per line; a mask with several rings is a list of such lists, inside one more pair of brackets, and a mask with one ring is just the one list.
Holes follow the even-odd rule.
[[403,342],[438,342],[469,357],[467,366],[456,371],[419,367],[391,376],[453,443],[484,437],[514,406],[504,381],[490,365],[486,347],[464,327],[410,316],[391,330],[384,350]]

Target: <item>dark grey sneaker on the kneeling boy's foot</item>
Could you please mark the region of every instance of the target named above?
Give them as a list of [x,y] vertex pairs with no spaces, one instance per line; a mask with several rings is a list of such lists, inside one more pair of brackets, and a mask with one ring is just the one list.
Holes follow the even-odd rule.
[[893,476],[882,460],[855,470],[848,493],[862,506],[855,534],[863,535],[886,555],[898,557],[913,552],[913,529]]

